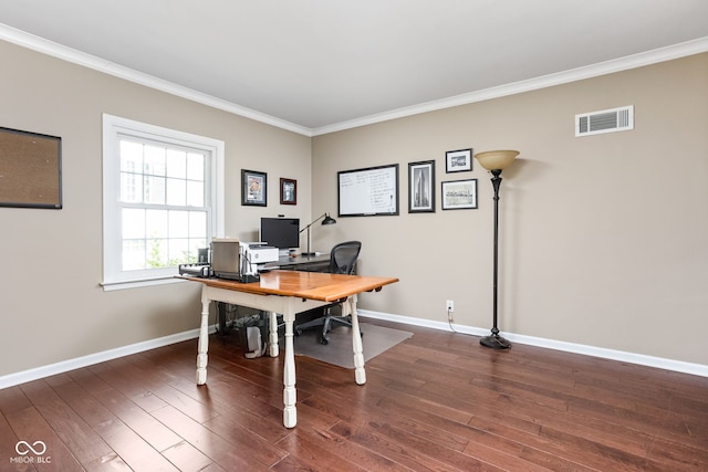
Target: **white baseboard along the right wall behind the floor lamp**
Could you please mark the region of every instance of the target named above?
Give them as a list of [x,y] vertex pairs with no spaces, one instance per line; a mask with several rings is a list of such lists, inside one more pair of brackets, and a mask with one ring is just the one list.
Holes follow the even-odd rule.
[[[450,326],[444,322],[434,322],[429,319],[414,318],[410,316],[371,312],[367,310],[360,310],[358,314],[374,319],[404,323],[407,325],[421,326],[433,329],[450,331]],[[456,324],[454,324],[452,327],[458,333],[469,334],[472,336],[487,336],[489,334],[489,328],[477,328]],[[513,343],[544,347],[548,349],[563,350],[566,353],[583,354],[585,356],[600,357],[603,359],[620,360],[623,363],[637,364],[641,366],[656,367],[659,369],[691,374],[700,377],[708,377],[708,366],[705,366],[702,364],[691,364],[681,360],[665,359],[662,357],[645,356],[643,354],[606,349],[603,347],[587,346],[583,344],[565,343],[562,340],[546,339],[542,337],[524,336],[507,332],[503,333],[503,336],[504,338]]]

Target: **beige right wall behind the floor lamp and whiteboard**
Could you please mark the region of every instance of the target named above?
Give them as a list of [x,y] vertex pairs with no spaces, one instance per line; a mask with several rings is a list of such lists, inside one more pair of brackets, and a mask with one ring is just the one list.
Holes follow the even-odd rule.
[[[363,272],[400,283],[363,308],[491,325],[492,188],[446,174],[445,151],[518,149],[500,200],[506,332],[708,365],[708,54],[313,139],[313,214],[336,172],[400,166],[400,216],[340,218]],[[574,137],[575,114],[635,106],[635,129]],[[435,213],[407,212],[407,165],[436,161]],[[440,210],[440,181],[478,179],[479,209]]]

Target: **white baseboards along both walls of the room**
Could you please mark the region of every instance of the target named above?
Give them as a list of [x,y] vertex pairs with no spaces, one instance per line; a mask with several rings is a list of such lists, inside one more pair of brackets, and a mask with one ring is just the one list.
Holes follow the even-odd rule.
[[[450,326],[444,322],[434,322],[430,319],[414,318],[410,316],[392,315],[388,313],[372,312],[368,310],[360,310],[360,315],[374,319],[383,319],[394,323],[403,323],[412,326],[420,326],[433,329],[450,331]],[[489,334],[488,328],[477,328],[472,326],[462,326],[454,324],[456,332],[472,336],[486,336]],[[216,325],[212,325],[209,333],[216,332]],[[623,350],[606,349],[603,347],[587,346],[583,344],[565,343],[562,340],[546,339],[542,337],[517,335],[512,333],[503,333],[504,337],[513,343],[527,344],[530,346],[544,347],[548,349],[563,350],[566,353],[583,354],[585,356],[600,357],[603,359],[620,360],[623,363],[637,364],[641,366],[656,367],[659,369],[674,370],[683,374],[691,374],[700,377],[708,377],[708,366],[701,364],[685,363],[681,360],[665,359],[662,357],[645,356],[642,354],[627,353]],[[13,387],[15,385],[25,384],[44,377],[63,374],[81,367],[92,366],[94,364],[106,360],[117,359],[118,357],[129,356],[131,354],[142,353],[144,350],[155,349],[157,347],[168,346],[183,340],[199,337],[199,329],[190,329],[169,336],[158,337],[156,339],[145,340],[142,343],[131,344],[128,346],[117,347],[115,349],[104,350],[102,353],[91,354],[88,356],[77,357],[48,366],[37,367],[14,374],[0,377],[0,389]]]

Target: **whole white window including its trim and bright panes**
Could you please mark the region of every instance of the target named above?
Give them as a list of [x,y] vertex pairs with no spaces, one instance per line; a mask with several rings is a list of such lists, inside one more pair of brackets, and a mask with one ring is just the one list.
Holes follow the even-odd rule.
[[103,286],[171,282],[223,233],[223,141],[103,115]]

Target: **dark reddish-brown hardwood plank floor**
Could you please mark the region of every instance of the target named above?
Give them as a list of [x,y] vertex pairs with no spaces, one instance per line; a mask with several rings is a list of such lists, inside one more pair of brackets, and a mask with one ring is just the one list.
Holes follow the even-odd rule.
[[237,336],[202,387],[195,339],[0,390],[0,471],[708,470],[708,378],[403,328],[365,386],[298,357],[291,430],[282,357]]

